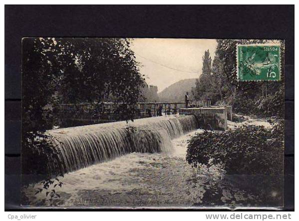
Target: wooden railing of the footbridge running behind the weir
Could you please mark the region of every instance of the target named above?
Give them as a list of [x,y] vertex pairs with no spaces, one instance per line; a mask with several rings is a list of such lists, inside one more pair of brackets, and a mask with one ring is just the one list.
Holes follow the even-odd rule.
[[[86,125],[122,120],[120,114],[115,113],[118,105],[119,103],[114,102],[66,103],[55,106],[55,112],[61,121],[61,126]],[[185,102],[138,102],[135,118],[176,114],[179,113],[180,108],[185,108],[185,105]],[[205,107],[208,105],[210,105],[209,101],[193,101],[188,106]]]

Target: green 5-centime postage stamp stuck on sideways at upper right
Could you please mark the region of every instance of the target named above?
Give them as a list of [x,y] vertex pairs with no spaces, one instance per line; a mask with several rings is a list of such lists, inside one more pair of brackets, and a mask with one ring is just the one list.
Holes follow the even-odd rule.
[[238,79],[280,80],[280,45],[237,45]]

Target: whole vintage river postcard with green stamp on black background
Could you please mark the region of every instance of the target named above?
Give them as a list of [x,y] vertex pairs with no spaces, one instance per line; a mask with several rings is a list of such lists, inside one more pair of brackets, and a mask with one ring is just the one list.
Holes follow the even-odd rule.
[[25,37],[22,206],[281,208],[284,40]]

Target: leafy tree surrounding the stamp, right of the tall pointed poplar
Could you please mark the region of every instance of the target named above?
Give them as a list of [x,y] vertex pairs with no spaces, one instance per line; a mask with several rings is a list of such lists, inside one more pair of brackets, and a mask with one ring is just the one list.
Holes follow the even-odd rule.
[[[220,85],[226,85],[225,103],[233,104],[235,111],[261,116],[283,117],[284,115],[284,70],[280,81],[238,81],[237,44],[268,43],[271,40],[218,39],[213,69],[218,74]],[[282,63],[285,43],[280,42]],[[216,65],[216,64],[221,65]],[[220,79],[221,78],[221,79]],[[268,95],[265,96],[265,88]],[[245,102],[246,101],[246,102]]]

